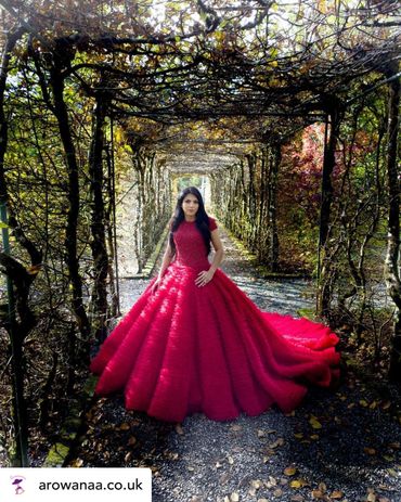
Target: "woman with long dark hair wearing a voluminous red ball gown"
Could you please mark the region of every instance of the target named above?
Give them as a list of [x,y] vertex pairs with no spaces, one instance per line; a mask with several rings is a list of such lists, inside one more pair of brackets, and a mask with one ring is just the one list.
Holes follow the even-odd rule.
[[224,421],[273,403],[288,412],[308,384],[331,384],[338,337],[323,324],[261,311],[218,268],[222,257],[200,193],[185,189],[158,276],[91,362],[96,394],[124,389],[127,409],[164,421],[194,412]]

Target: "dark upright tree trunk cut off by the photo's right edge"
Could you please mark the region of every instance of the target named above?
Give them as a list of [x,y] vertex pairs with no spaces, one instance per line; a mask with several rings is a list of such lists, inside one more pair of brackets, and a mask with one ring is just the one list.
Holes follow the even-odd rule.
[[[399,72],[398,65],[386,72],[391,77]],[[387,183],[389,194],[388,206],[388,241],[385,261],[385,280],[387,291],[396,304],[396,320],[391,337],[389,378],[401,382],[401,282],[399,273],[400,257],[400,179],[397,166],[397,147],[399,131],[400,80],[394,79],[389,85],[388,99],[388,154]]]

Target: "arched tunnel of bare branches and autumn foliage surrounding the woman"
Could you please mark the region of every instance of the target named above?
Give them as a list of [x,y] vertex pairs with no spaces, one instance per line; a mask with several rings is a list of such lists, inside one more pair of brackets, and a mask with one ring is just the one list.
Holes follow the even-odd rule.
[[0,0],[0,438],[15,464],[56,430],[118,314],[127,178],[139,272],[174,177],[207,175],[267,273],[314,278],[316,313],[401,378],[397,4]]

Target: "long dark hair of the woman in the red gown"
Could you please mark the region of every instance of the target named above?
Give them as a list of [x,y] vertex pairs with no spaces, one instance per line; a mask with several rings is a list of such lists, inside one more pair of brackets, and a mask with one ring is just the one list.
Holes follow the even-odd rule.
[[178,196],[176,210],[171,219],[171,227],[170,227],[171,230],[169,234],[170,247],[171,247],[172,254],[176,254],[176,244],[173,240],[173,233],[185,219],[184,211],[182,210],[182,203],[189,193],[191,193],[192,195],[195,195],[195,197],[197,198],[199,203],[198,209],[196,211],[195,224],[196,224],[197,230],[202,233],[202,236],[203,236],[203,240],[206,246],[206,256],[208,256],[211,250],[209,217],[206,214],[205,205],[204,205],[204,201],[202,198],[200,192],[195,186],[187,186],[186,189],[182,190],[182,192]]

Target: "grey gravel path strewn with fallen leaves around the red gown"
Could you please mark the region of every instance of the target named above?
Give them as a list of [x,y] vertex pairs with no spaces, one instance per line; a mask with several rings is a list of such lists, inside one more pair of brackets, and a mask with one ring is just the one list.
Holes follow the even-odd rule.
[[[312,307],[308,282],[257,278],[221,231],[223,270],[263,309],[296,314]],[[127,310],[147,281],[121,284]],[[401,502],[400,392],[344,370],[336,389],[311,388],[284,415],[182,425],[128,412],[121,396],[98,400],[68,465],[150,466],[154,502],[311,500]]]

